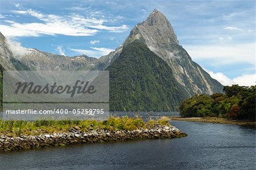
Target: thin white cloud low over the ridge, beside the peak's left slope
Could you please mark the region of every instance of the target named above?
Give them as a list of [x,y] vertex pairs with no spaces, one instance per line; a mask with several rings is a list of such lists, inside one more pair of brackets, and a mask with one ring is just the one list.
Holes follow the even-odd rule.
[[74,48],[68,48],[71,51],[75,51],[77,53],[79,53],[80,55],[84,54],[90,57],[101,57],[101,56],[105,56],[108,55],[110,52],[114,51],[114,49],[110,49],[110,48],[96,48],[96,47],[90,47],[94,50],[90,50],[90,49],[74,49]]

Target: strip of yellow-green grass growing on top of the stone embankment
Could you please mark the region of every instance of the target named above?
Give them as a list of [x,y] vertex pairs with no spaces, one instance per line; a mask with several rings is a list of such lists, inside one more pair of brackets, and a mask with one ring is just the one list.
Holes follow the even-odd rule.
[[141,118],[110,117],[107,121],[85,120],[85,121],[3,121],[0,120],[0,135],[21,136],[52,134],[53,132],[67,132],[78,126],[81,131],[90,130],[137,130],[138,128],[150,128],[158,125],[170,126],[169,119],[162,117],[156,121],[143,122]]

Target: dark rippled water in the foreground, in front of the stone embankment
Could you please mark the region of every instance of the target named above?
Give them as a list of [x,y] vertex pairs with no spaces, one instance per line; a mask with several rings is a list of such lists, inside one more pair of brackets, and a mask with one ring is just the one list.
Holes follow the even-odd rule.
[[255,169],[255,128],[171,124],[188,136],[9,152],[0,169]]

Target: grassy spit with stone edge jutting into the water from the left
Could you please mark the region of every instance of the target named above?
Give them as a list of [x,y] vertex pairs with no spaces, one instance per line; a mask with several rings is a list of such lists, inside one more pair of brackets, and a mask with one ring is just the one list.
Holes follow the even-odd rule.
[[[57,121],[56,121],[57,122]],[[72,122],[76,125],[62,129],[56,122],[38,125],[36,130],[31,130],[35,122],[7,122],[15,130],[15,123],[20,123],[20,129],[31,128],[18,134],[13,130],[0,132],[0,152],[14,150],[28,150],[32,148],[44,148],[54,146],[67,146],[81,143],[98,143],[119,140],[138,140],[138,139],[159,139],[159,138],[179,138],[187,136],[174,126],[168,123],[168,119],[161,118],[158,121],[143,122],[142,119],[134,118],[113,118],[108,121],[77,121]],[[32,123],[32,124],[31,124]],[[41,122],[43,123],[43,122]],[[47,125],[45,125],[48,123]],[[60,123],[60,122],[59,122]],[[85,124],[89,126],[85,126]],[[56,127],[55,127],[55,126]],[[10,125],[9,125],[10,126]],[[48,130],[48,132],[46,132]],[[33,135],[28,135],[31,131]],[[38,134],[40,132],[40,134]],[[38,134],[38,135],[36,135]]]

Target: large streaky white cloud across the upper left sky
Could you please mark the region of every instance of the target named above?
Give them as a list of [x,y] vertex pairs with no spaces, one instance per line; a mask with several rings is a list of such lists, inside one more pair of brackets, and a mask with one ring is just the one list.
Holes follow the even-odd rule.
[[69,36],[92,36],[101,30],[109,32],[124,32],[128,26],[106,26],[108,20],[96,18],[84,18],[78,14],[69,14],[66,16],[43,14],[32,9],[24,9],[20,5],[19,10],[13,11],[16,14],[30,15],[39,19],[40,22],[18,23],[6,21],[6,24],[0,24],[0,30],[5,36],[40,36],[46,35],[69,35]]

